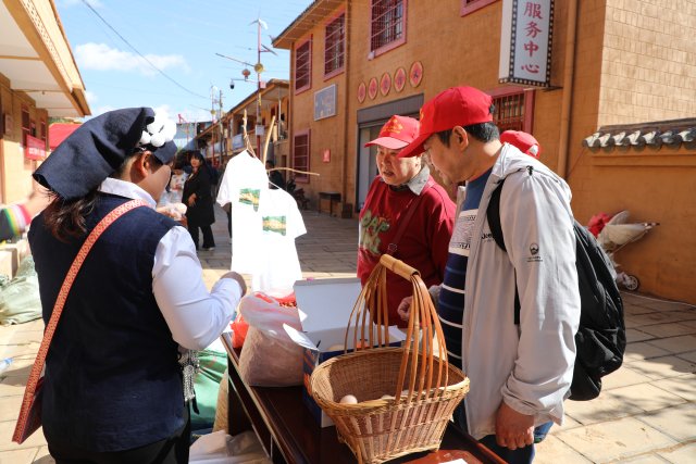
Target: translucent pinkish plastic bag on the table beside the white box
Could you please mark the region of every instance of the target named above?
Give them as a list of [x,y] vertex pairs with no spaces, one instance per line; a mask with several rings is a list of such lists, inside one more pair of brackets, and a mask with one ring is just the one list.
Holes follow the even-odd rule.
[[303,349],[283,328],[301,330],[296,306],[283,306],[276,300],[253,293],[241,299],[239,312],[249,324],[239,356],[239,375],[256,387],[288,387],[302,384]]

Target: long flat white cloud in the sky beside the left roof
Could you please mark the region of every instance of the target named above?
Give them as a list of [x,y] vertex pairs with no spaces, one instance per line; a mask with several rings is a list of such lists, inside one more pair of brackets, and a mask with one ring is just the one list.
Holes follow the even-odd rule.
[[[186,60],[181,54],[146,54],[145,57],[162,71],[167,67],[181,67],[188,71]],[[146,76],[157,74],[157,71],[142,57],[111,48],[105,43],[89,42],[77,46],[75,60],[77,65],[85,70],[137,72]]]

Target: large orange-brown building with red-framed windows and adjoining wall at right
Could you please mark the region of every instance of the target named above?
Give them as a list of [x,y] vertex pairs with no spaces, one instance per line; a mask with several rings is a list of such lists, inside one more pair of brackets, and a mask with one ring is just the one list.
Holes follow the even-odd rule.
[[[376,174],[363,145],[380,126],[448,87],[477,87],[501,129],[539,140],[581,223],[620,210],[659,222],[617,259],[643,291],[695,303],[695,0],[316,0],[273,42],[290,50],[290,165],[320,174],[297,179],[314,203],[338,193],[356,214]],[[542,81],[509,78],[511,48],[519,62],[547,51],[525,65],[545,66]]]

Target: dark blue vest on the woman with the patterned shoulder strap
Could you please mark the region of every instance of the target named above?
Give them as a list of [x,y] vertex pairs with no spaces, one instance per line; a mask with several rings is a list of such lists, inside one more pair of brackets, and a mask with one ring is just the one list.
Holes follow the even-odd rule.
[[[100,195],[88,230],[125,201]],[[47,358],[42,422],[49,443],[128,450],[184,425],[177,343],[152,294],[154,251],[175,225],[138,208],[113,223],[85,260]],[[32,224],[45,322],[83,241],[55,239],[42,215]]]

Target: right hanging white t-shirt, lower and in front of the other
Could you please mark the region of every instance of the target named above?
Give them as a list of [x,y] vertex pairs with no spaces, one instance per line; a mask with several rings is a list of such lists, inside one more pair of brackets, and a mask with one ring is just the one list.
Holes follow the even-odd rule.
[[279,189],[261,192],[259,214],[262,252],[260,268],[252,274],[251,287],[273,297],[286,297],[293,292],[295,281],[302,278],[295,239],[307,234],[304,222],[295,199]]

